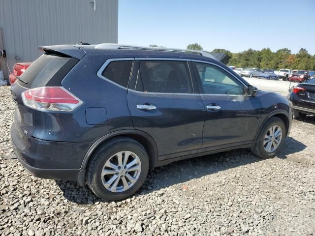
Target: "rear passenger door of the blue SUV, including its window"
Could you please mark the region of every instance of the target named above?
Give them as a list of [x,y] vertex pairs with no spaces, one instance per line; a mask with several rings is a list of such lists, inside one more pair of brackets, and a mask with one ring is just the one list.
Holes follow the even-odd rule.
[[134,128],[149,134],[158,159],[197,153],[202,144],[204,106],[180,59],[136,59],[128,89]]

